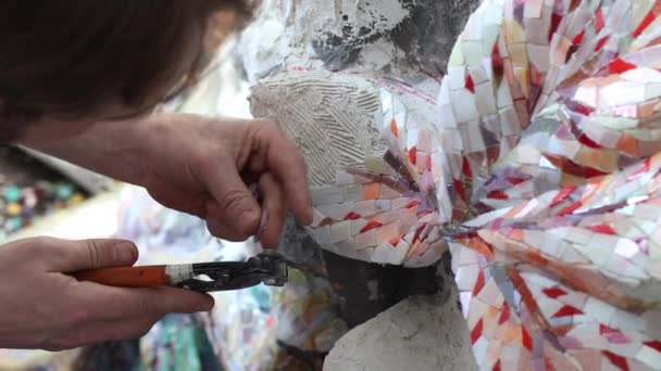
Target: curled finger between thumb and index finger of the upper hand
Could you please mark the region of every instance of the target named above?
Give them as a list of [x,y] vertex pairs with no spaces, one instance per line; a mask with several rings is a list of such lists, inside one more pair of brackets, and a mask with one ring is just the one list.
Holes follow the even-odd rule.
[[269,172],[261,177],[260,188],[264,197],[262,213],[265,216],[265,226],[258,236],[264,247],[276,248],[285,225],[284,192],[273,175]]

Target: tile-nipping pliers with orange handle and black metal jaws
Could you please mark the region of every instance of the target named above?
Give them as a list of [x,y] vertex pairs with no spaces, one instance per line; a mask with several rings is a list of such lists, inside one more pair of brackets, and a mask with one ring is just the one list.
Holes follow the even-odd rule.
[[264,283],[287,282],[288,263],[275,252],[258,254],[246,261],[197,263],[92,269],[74,273],[78,281],[120,287],[174,286],[200,292],[239,290]]

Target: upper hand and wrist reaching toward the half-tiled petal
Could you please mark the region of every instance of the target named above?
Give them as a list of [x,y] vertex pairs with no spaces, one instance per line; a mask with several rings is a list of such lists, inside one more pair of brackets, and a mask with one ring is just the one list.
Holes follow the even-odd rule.
[[[142,186],[161,204],[205,219],[211,233],[226,240],[257,234],[275,247],[287,209],[299,222],[312,222],[303,158],[270,119],[154,114],[20,143]],[[259,186],[262,200],[249,186]]]

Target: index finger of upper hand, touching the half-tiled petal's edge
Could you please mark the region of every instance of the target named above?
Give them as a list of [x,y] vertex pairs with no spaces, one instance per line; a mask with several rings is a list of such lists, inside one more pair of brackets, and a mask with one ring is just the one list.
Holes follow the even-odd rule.
[[265,154],[267,167],[279,180],[288,206],[300,222],[311,223],[312,197],[308,188],[303,158],[277,126],[261,130],[258,136],[261,136],[258,138],[258,143],[267,149]]

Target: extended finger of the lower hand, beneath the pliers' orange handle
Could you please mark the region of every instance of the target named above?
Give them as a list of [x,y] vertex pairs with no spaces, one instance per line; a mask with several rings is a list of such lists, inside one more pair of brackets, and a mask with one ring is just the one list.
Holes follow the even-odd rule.
[[174,287],[125,289],[79,282],[72,300],[85,306],[85,320],[152,318],[166,314],[194,314],[213,308],[205,293]]

